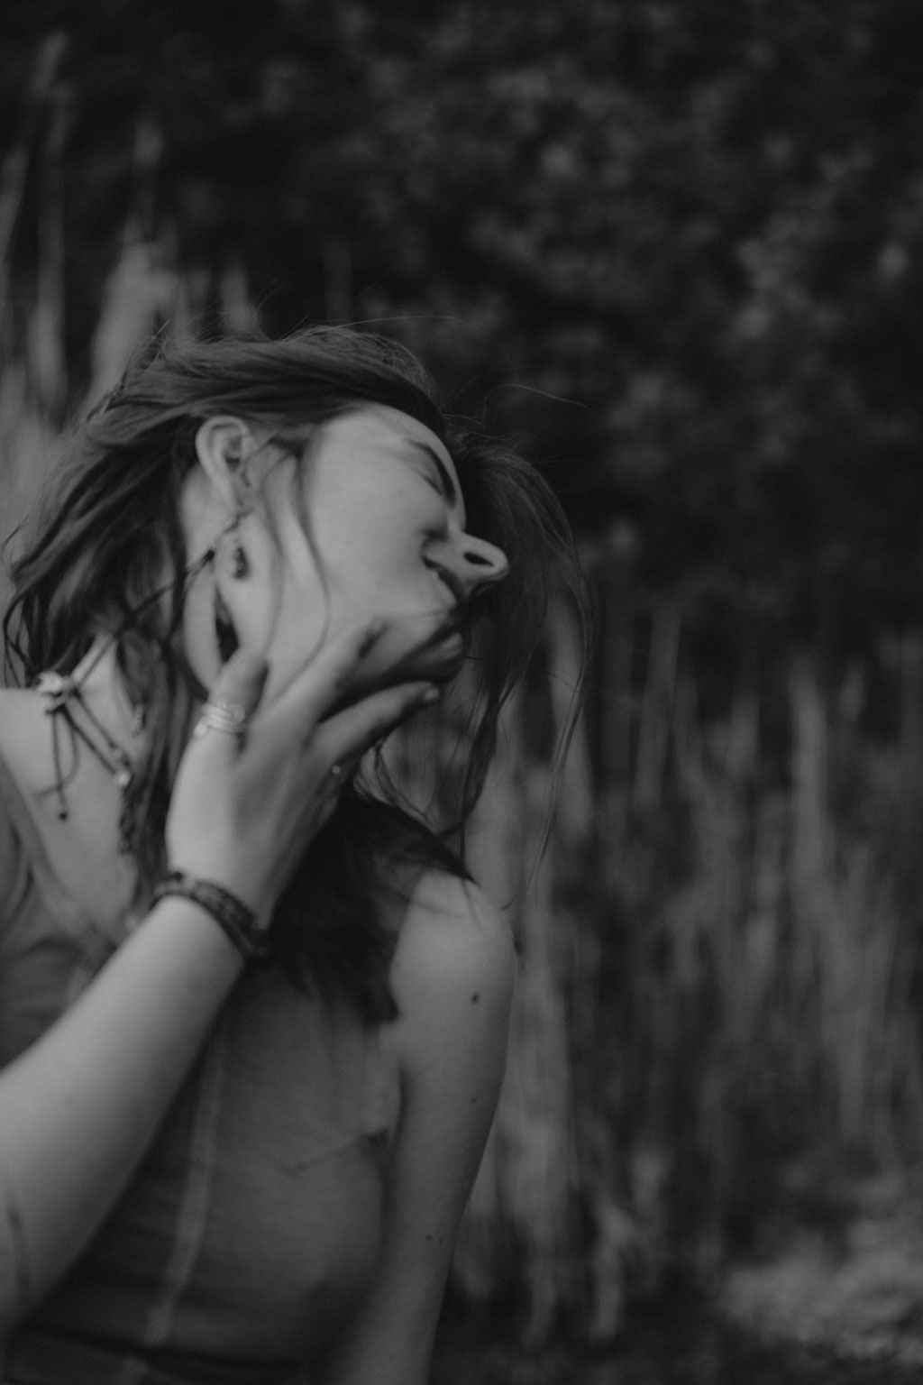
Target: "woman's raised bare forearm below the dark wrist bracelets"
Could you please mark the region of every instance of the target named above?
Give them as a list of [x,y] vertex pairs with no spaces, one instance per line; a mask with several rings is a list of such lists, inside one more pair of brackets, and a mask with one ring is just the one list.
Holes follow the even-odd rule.
[[0,1339],[112,1209],[239,972],[198,904],[165,899],[0,1072]]

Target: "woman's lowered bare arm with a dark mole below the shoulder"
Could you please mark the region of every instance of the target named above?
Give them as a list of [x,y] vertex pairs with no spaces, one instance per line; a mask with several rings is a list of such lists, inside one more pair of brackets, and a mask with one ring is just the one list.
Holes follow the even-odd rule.
[[483,893],[423,877],[394,960],[401,1116],[379,1273],[324,1385],[425,1385],[458,1224],[506,1058],[515,958]]

